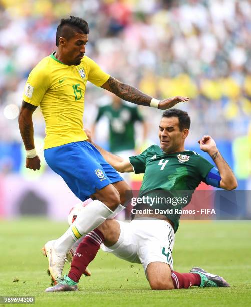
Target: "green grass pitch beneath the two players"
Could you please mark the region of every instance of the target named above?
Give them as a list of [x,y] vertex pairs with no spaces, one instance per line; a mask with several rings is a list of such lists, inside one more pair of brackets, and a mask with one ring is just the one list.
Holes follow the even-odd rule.
[[0,221],[0,296],[35,296],[37,306],[250,306],[250,222],[186,221],[176,234],[175,270],[200,266],[225,277],[231,288],[152,291],[141,265],[99,251],[89,266],[92,276],[82,277],[78,292],[45,293],[50,282],[41,247],[66,227],[37,218]]

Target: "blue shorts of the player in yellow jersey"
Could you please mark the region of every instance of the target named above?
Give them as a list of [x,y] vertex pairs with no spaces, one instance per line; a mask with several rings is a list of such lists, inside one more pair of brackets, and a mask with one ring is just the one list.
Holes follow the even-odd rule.
[[73,142],[44,150],[49,167],[85,201],[105,186],[124,180],[89,142]]

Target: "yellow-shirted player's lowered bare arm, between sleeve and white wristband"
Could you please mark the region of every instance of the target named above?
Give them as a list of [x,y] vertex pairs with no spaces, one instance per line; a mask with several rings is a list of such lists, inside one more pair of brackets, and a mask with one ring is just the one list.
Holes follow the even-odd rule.
[[26,150],[31,150],[35,148],[33,138],[32,114],[36,110],[36,108],[36,106],[23,100],[19,112],[19,130]]

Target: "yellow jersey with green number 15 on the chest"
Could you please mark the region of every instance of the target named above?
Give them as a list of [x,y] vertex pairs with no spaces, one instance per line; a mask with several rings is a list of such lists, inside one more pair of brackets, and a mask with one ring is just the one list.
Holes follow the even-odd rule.
[[46,123],[44,149],[87,139],[83,130],[86,82],[102,86],[109,77],[87,56],[80,65],[69,66],[51,54],[34,67],[23,100],[41,107]]

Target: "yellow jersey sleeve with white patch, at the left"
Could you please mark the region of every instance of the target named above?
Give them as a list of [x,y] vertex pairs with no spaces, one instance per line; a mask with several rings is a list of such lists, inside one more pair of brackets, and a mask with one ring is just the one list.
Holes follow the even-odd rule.
[[25,84],[23,100],[27,103],[38,106],[50,87],[50,83],[50,72],[48,69],[41,68],[38,64],[28,76]]

